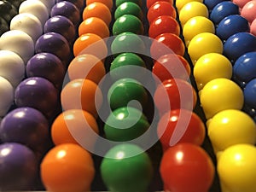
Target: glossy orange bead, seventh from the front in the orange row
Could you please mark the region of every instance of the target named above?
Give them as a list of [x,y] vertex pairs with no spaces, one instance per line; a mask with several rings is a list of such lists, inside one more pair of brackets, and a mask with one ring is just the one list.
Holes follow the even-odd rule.
[[83,20],[90,17],[97,17],[104,20],[107,26],[109,26],[109,23],[112,20],[111,12],[108,7],[103,3],[97,2],[90,3],[83,11]]

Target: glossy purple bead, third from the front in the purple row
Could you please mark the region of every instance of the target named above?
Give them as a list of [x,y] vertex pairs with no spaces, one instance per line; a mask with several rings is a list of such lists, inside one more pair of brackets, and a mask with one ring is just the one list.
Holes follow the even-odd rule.
[[18,107],[36,108],[47,117],[55,112],[57,102],[55,86],[44,78],[25,79],[15,90],[15,104]]

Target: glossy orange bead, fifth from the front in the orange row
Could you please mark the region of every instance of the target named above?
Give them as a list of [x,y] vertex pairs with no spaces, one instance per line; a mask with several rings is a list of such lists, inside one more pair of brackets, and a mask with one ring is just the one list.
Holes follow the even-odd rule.
[[108,48],[102,38],[93,33],[81,35],[73,44],[73,55],[91,54],[102,59],[108,55]]

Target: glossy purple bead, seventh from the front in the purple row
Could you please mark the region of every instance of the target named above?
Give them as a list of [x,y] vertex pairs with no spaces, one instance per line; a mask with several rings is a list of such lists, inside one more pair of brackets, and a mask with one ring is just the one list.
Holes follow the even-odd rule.
[[70,2],[62,1],[56,3],[55,6],[51,9],[50,16],[62,15],[67,17],[67,19],[73,22],[74,26],[78,26],[80,22],[80,12],[79,9]]

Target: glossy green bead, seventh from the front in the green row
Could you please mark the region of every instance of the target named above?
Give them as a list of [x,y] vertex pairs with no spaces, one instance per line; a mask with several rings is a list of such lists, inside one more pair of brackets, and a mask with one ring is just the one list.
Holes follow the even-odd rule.
[[140,20],[143,20],[143,11],[133,2],[125,2],[119,5],[119,7],[114,12],[114,19],[117,20],[123,15],[134,15],[137,16]]

